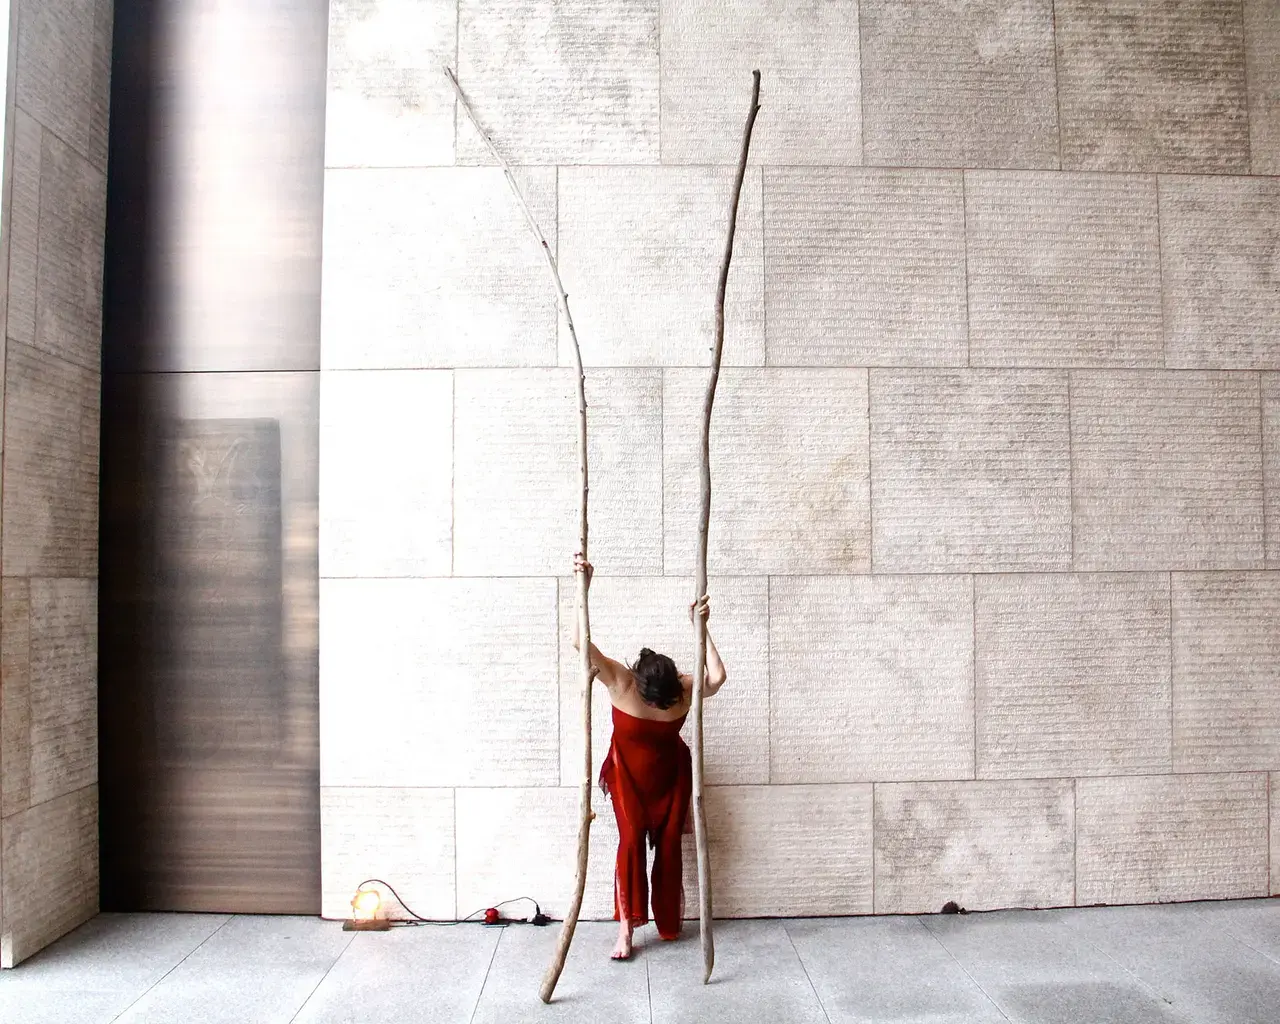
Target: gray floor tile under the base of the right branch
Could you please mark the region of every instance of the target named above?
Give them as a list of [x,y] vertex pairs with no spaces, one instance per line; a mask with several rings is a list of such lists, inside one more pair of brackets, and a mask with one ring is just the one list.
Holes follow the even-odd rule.
[[652,943],[653,1024],[826,1021],[818,996],[780,920],[716,922],[716,973],[703,984],[698,924],[678,942]]

